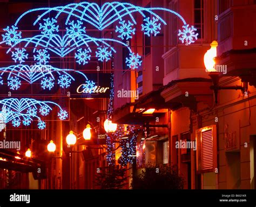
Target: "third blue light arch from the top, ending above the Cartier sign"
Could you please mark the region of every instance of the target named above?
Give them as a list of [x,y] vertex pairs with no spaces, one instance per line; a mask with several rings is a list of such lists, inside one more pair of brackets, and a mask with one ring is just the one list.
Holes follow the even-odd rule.
[[[60,69],[50,65],[13,65],[9,67],[0,68],[0,80],[3,85],[4,74],[8,74],[7,83],[11,90],[17,90],[21,87],[21,80],[30,84],[41,80],[41,86],[43,89],[51,89],[44,84],[45,78],[51,78],[52,82],[57,79],[57,84],[61,88],[69,88],[71,81],[75,81],[75,78],[70,73],[78,73],[84,78],[84,82],[88,81],[86,75],[82,72],[73,69]],[[54,75],[56,74],[56,75]]]

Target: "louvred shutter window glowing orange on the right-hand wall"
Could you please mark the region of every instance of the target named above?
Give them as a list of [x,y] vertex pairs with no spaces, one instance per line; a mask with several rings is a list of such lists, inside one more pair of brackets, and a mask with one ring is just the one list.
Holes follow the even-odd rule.
[[217,167],[217,132],[211,125],[196,131],[197,170],[213,172]]

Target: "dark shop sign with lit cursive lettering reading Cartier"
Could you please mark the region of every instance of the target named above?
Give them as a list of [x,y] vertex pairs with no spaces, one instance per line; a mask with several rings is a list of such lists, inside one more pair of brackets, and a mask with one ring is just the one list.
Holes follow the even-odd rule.
[[88,80],[76,78],[70,87],[71,98],[109,98],[111,90],[111,74],[86,74]]

